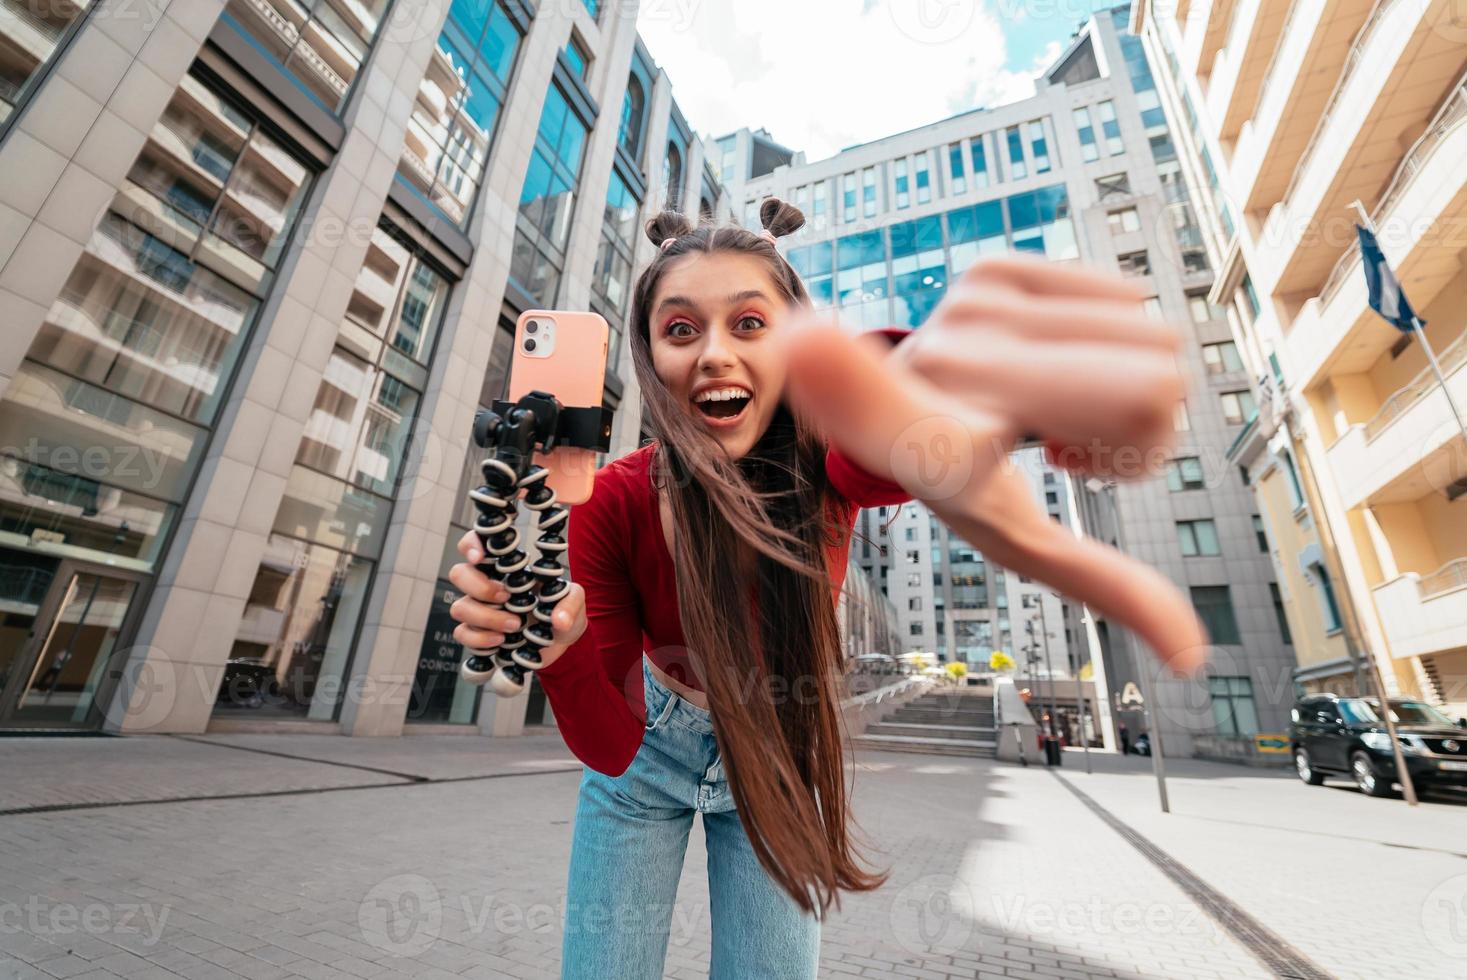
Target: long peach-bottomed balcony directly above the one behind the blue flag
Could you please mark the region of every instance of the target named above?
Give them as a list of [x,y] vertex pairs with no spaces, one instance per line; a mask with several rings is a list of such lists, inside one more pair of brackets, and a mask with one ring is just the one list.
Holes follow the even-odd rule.
[[1451,16],[1449,0],[1380,0],[1267,214],[1250,263],[1260,292],[1309,296],[1325,285],[1353,241],[1345,208],[1380,201],[1402,148],[1427,129],[1467,67]]

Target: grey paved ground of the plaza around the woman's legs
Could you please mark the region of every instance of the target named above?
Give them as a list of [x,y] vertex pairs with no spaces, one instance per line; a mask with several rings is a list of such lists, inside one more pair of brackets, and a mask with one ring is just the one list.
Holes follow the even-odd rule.
[[[557,976],[579,764],[553,731],[4,739],[0,753],[0,810],[12,811],[0,816],[0,979]],[[1086,776],[1067,757],[1062,782],[1042,767],[858,754],[857,817],[892,877],[824,924],[822,976],[1270,976],[1067,782],[1332,973],[1463,974],[1467,959],[1426,959],[1420,924],[1407,942],[1366,929],[1391,904],[1382,883],[1424,896],[1460,857],[1353,841],[1378,823],[1358,800],[1228,766],[1179,772],[1177,813],[1153,817],[1143,760],[1096,758],[1111,772]],[[1323,816],[1253,826],[1294,789]],[[1435,841],[1464,814],[1419,816],[1429,829],[1401,836]],[[1304,826],[1314,822],[1334,836]],[[1304,871],[1320,855],[1354,869],[1353,889],[1329,882],[1311,896]],[[706,860],[697,829],[667,955],[679,980],[707,976]],[[1320,930],[1310,901],[1360,921]]]

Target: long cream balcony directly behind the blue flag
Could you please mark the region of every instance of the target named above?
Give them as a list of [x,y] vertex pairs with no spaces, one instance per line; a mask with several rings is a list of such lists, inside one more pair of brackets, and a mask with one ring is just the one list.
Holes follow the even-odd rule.
[[[1467,220],[1467,76],[1397,167],[1372,220],[1380,246],[1417,310],[1424,310],[1461,273],[1454,229]],[[1410,241],[1401,241],[1410,236]],[[1303,305],[1285,343],[1300,390],[1326,376],[1370,368],[1400,333],[1367,304],[1357,245],[1336,261],[1319,296]]]

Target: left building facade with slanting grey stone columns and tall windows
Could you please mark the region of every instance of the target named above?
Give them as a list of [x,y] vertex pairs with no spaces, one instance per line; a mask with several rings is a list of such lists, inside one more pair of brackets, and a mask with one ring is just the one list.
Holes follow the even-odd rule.
[[723,207],[637,4],[175,0],[0,25],[0,728],[518,731],[459,685],[469,427]]

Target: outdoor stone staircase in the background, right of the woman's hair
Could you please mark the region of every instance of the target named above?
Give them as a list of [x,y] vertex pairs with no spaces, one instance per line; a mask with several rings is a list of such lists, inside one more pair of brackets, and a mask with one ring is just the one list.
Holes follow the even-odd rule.
[[990,688],[943,688],[896,707],[851,739],[858,748],[993,758],[998,732]]

